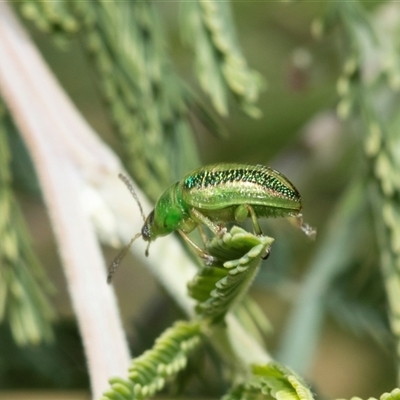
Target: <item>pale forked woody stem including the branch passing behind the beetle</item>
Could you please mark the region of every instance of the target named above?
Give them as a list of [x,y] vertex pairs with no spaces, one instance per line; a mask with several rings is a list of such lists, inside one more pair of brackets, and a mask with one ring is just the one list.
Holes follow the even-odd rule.
[[[117,244],[128,243],[143,220],[118,179],[123,172],[118,158],[75,109],[4,2],[0,2],[0,94],[39,177],[83,338],[93,397],[98,398],[110,376],[126,375],[129,351],[114,291],[106,284],[93,223],[104,242]],[[136,186],[135,190],[149,211],[140,190]],[[144,249],[141,240],[132,246],[132,252],[192,315],[194,302],[186,284],[196,267],[180,243],[169,235],[152,244],[148,258]],[[269,360],[233,317],[228,319],[228,331],[246,362]],[[240,351],[243,345],[245,352]]]

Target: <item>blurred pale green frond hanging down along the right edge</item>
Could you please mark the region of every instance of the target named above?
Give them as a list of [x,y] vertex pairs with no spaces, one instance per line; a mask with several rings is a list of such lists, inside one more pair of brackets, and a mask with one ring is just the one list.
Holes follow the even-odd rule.
[[[391,5],[387,5],[390,12]],[[343,31],[346,62],[338,81],[341,96],[338,114],[359,118],[369,167],[368,197],[375,216],[380,266],[388,303],[392,334],[400,342],[400,162],[399,127],[400,16],[388,23],[366,17],[356,2],[336,6],[337,23]],[[376,60],[382,59],[376,65]],[[374,68],[371,68],[371,67]],[[396,346],[399,348],[399,346]],[[400,352],[398,350],[400,382]]]

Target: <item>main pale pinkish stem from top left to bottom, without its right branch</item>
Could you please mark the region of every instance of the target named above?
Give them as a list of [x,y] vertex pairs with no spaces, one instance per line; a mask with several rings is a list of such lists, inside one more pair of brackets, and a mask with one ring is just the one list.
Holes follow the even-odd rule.
[[126,373],[129,350],[82,191],[117,175],[119,163],[97,139],[23,31],[0,3],[0,90],[33,159],[60,249],[87,355],[94,397]]

